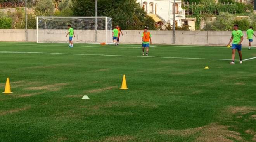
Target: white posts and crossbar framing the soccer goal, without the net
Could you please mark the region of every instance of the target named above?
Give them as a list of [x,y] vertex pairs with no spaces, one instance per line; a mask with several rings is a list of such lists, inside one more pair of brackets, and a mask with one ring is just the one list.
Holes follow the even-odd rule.
[[[43,18],[74,18],[74,19],[79,19],[79,18],[90,18],[90,19],[95,19],[95,25],[97,25],[97,19],[105,19],[105,41],[104,42],[101,42],[101,43],[105,43],[105,44],[109,44],[108,43],[108,39],[107,39],[107,37],[108,37],[108,32],[109,33],[111,33],[112,34],[112,18],[109,18],[109,17],[57,17],[57,16],[38,16],[38,17],[36,17],[36,42],[37,43],[45,43],[45,42],[40,42],[39,41],[39,27],[38,27],[38,19],[43,19]],[[110,24],[111,24],[111,28],[110,29],[108,29],[107,28],[107,26],[108,26],[108,24],[109,24],[109,22],[107,21],[108,19],[110,19],[109,20],[109,22],[111,22]],[[76,29],[74,29],[74,31],[75,31]],[[75,32],[75,34],[76,34],[76,32]],[[95,42],[97,42],[97,26],[95,26]],[[85,42],[85,43],[88,43],[88,42]],[[111,43],[112,43],[112,35],[111,35]]]

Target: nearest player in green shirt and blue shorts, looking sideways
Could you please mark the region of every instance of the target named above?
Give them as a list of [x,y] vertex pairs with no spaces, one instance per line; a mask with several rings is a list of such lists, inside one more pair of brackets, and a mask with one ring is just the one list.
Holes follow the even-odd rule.
[[244,34],[241,30],[238,29],[238,25],[234,25],[234,30],[232,31],[232,36],[228,42],[228,47],[230,47],[230,43],[232,43],[232,62],[229,64],[235,64],[235,51],[238,51],[240,57],[240,64],[243,63],[242,61],[242,41],[244,40]]

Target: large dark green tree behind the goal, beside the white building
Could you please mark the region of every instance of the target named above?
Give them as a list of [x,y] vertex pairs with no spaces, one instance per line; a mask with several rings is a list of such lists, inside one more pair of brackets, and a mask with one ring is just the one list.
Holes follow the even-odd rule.
[[[95,0],[74,0],[72,9],[76,16],[95,16]],[[136,0],[98,0],[97,16],[111,17],[112,24],[124,30],[142,30],[145,26],[156,29],[154,20]]]

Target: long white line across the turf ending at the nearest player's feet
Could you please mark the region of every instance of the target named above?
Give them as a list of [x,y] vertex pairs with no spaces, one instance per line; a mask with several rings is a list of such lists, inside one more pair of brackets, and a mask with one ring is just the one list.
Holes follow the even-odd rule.
[[[223,60],[228,61],[230,59],[210,59],[210,58],[190,58],[190,57],[161,57],[161,56],[127,56],[127,55],[106,55],[106,54],[74,54],[74,53],[49,53],[49,52],[5,52],[0,53],[16,53],[16,54],[56,54],[56,55],[83,55],[83,56],[116,56],[116,57],[144,57],[144,58],[165,58],[165,59],[198,59],[198,60]],[[238,61],[238,60],[236,60]]]

